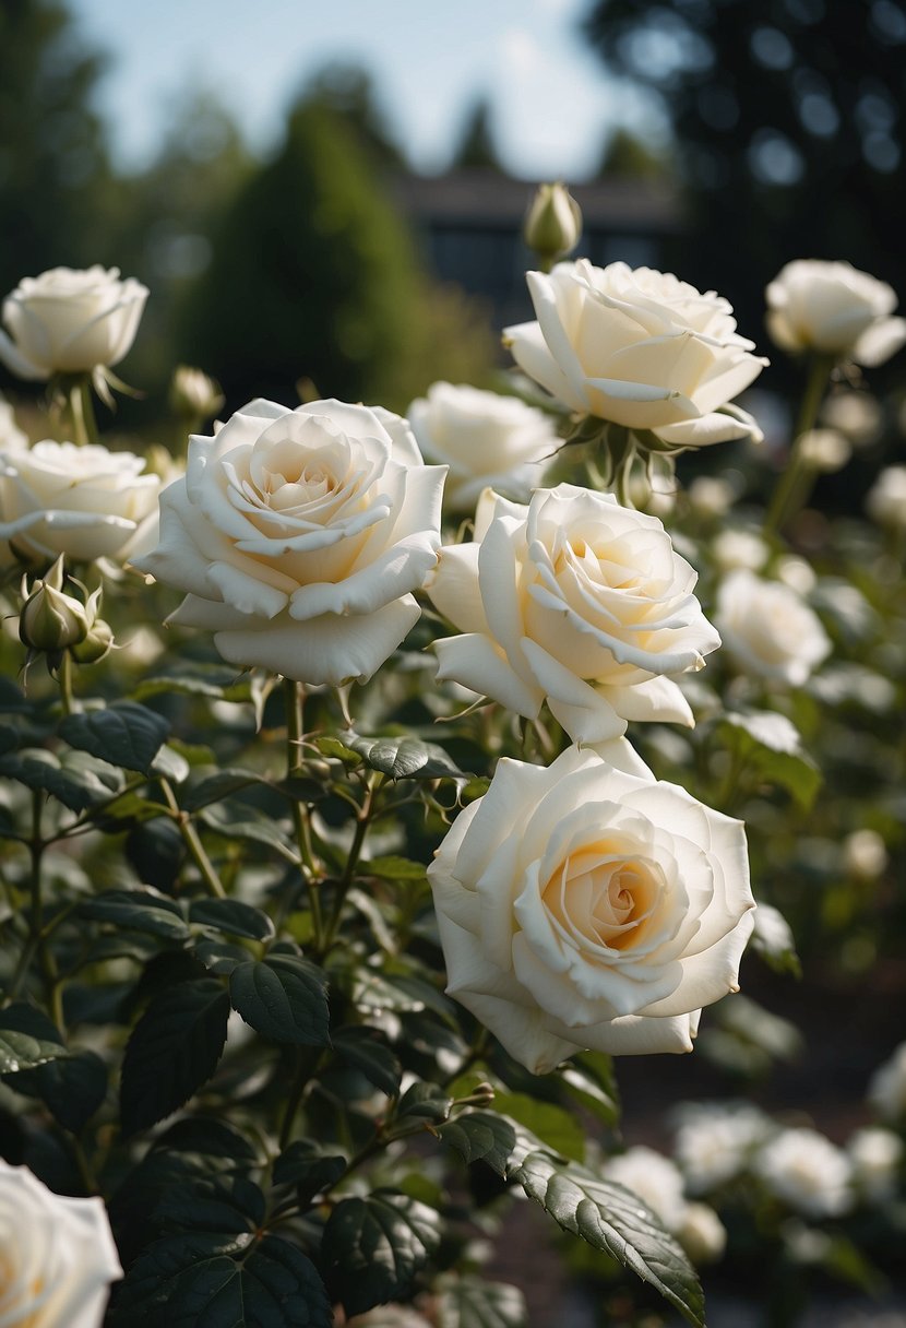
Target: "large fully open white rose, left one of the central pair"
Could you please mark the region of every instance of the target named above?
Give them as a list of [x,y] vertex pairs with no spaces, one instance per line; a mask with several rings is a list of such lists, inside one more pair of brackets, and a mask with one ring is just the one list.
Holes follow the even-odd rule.
[[212,631],[231,664],[365,680],[419,618],[443,477],[389,412],[251,401],[191,437],[186,477],[161,495],[161,543],[137,566],[186,592],[170,622]]

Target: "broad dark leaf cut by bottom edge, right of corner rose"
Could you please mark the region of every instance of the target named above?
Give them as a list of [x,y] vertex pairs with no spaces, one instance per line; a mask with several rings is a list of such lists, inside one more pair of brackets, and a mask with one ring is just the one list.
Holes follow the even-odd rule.
[[330,1328],[318,1274],[301,1250],[265,1236],[241,1263],[241,1238],[166,1236],[129,1270],[117,1328]]

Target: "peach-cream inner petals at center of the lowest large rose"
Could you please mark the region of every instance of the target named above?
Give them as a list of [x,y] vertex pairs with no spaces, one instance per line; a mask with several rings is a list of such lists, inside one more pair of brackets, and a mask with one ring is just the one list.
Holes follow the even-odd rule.
[[663,884],[655,862],[601,843],[570,854],[541,898],[578,943],[629,950],[643,938]]

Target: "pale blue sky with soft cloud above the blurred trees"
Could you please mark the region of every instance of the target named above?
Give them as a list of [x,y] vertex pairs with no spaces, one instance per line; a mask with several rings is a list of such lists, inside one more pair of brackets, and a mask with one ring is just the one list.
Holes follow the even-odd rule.
[[211,90],[267,150],[305,76],[363,64],[419,170],[442,170],[472,100],[487,93],[508,169],[581,179],[605,130],[638,104],[578,33],[589,0],[70,0],[110,69],[99,109],[125,167],[141,167],[170,108]]

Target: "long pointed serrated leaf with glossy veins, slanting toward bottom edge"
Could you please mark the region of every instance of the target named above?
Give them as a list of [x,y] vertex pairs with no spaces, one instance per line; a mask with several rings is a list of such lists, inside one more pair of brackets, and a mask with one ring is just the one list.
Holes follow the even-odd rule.
[[545,1153],[529,1153],[511,1178],[564,1231],[604,1250],[659,1291],[695,1328],[704,1328],[704,1296],[695,1270],[638,1195]]

